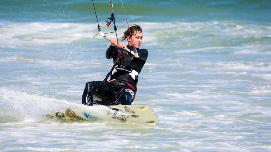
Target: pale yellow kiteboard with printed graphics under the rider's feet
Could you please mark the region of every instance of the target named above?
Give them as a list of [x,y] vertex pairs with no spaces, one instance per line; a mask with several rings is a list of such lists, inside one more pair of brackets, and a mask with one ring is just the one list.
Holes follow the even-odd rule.
[[[155,125],[158,122],[155,113],[148,105],[113,105],[108,106],[106,117],[122,122],[146,123]],[[55,111],[47,114],[46,118],[56,118],[67,121],[95,121],[101,116],[87,108],[74,108]]]

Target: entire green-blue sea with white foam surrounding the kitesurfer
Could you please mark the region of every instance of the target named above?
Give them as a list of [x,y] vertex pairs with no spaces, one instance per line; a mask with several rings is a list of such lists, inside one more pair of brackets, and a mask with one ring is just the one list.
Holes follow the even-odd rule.
[[[149,57],[133,104],[149,105],[159,123],[45,121],[85,107],[85,83],[113,64],[110,44],[93,39],[92,1],[2,0],[0,151],[271,150],[269,1],[123,0],[126,14],[112,2],[117,24],[143,29]],[[112,32],[108,1],[94,3],[102,31]]]

